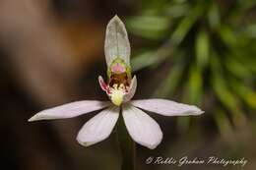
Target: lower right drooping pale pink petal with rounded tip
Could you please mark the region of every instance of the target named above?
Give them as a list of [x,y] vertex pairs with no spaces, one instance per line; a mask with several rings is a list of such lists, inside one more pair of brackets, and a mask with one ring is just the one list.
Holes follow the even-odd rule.
[[122,113],[128,133],[135,142],[151,149],[160,144],[162,133],[154,119],[131,104],[125,104]]

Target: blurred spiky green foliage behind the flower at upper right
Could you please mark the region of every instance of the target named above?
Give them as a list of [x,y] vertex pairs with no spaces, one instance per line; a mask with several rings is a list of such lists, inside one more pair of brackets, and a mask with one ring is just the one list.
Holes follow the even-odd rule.
[[[181,91],[185,102],[212,113],[221,134],[243,126],[245,113],[256,109],[256,1],[138,3],[127,27],[148,45],[137,49],[133,69],[171,63],[154,95],[170,98]],[[179,127],[188,127],[189,119],[179,119]]]

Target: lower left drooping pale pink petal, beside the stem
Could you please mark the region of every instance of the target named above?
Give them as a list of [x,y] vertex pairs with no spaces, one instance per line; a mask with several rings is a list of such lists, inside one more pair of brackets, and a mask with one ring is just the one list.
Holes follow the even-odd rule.
[[90,119],[80,130],[77,141],[85,146],[105,140],[119,117],[119,107],[107,108]]

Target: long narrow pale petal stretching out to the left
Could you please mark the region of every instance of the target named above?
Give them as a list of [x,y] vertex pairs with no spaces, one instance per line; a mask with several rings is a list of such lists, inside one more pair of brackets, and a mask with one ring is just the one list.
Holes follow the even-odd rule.
[[38,120],[48,120],[48,119],[64,119],[72,118],[85,113],[93,112],[109,106],[111,103],[108,101],[97,101],[97,100],[84,100],[76,101],[50,109],[42,110],[32,116],[29,122]]

